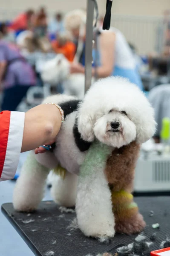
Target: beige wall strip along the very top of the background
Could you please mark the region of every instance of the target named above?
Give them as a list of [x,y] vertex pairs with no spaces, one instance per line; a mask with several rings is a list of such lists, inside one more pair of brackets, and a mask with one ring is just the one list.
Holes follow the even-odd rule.
[[[105,12],[106,0],[97,0],[100,12]],[[49,12],[67,12],[75,8],[85,8],[86,0],[0,0],[0,8],[14,12],[17,9],[47,6]],[[161,16],[170,9],[170,0],[113,0],[112,13],[123,15]]]

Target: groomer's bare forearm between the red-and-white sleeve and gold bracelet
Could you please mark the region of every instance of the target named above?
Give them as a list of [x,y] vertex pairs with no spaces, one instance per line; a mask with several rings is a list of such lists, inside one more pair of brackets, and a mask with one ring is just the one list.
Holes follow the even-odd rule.
[[53,142],[61,127],[61,113],[55,105],[42,104],[25,114],[21,152]]

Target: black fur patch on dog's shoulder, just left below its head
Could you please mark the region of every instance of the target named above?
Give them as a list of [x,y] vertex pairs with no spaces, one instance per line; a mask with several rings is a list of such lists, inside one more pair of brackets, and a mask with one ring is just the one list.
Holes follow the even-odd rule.
[[89,149],[92,143],[81,139],[81,134],[78,131],[77,119],[75,120],[75,124],[73,127],[73,135],[75,138],[75,143],[81,152]]

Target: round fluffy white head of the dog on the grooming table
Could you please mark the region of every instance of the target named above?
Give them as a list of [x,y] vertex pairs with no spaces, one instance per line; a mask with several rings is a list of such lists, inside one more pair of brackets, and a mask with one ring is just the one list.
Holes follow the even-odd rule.
[[120,77],[101,79],[87,91],[79,106],[78,131],[83,140],[120,148],[144,143],[156,130],[154,111],[135,84]]

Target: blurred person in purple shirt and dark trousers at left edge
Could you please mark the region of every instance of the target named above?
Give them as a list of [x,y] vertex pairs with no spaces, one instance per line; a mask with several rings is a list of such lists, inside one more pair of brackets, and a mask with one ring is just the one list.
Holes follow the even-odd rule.
[[1,111],[15,111],[29,87],[34,85],[35,74],[19,49],[0,39],[0,90],[3,91]]

